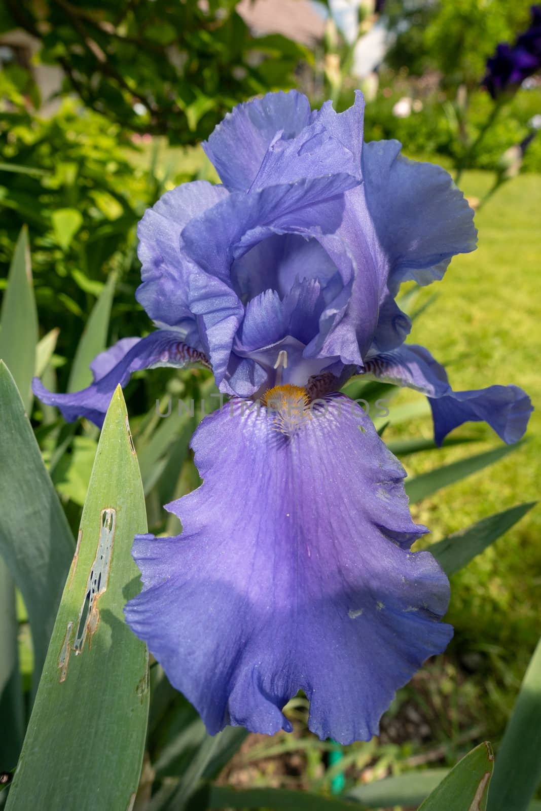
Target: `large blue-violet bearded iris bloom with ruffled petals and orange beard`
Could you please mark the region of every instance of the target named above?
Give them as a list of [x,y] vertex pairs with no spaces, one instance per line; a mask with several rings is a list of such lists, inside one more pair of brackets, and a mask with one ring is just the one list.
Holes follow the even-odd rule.
[[268,94],[204,148],[223,185],[169,191],[140,223],[137,299],[157,330],[98,356],[82,392],[34,391],[99,425],[132,371],[212,367],[232,399],[192,439],[204,483],[167,505],[182,534],[135,539],[144,587],[127,622],[208,732],[290,730],[282,708],[303,689],[313,732],[366,740],[449,642],[449,582],[410,551],[427,530],[405,471],[338,389],[357,373],[418,389],[438,442],[468,420],[516,442],[530,400],[515,386],[453,392],[427,350],[404,345],[401,282],[427,285],[473,251],[473,212],[443,169],[397,141],[363,144],[360,93],[342,114]]

